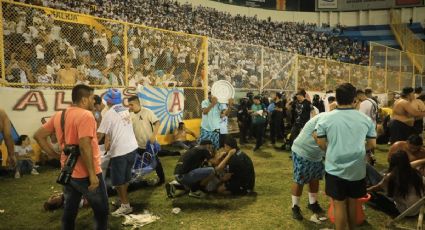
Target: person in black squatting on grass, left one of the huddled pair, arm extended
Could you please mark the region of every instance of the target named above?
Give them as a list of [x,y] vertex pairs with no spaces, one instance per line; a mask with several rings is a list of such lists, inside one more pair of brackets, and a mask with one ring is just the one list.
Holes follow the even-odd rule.
[[216,172],[224,170],[228,160],[236,151],[230,151],[224,160],[216,167],[204,167],[212,159],[214,151],[213,142],[202,140],[200,145],[180,157],[174,170],[176,181],[167,183],[165,189],[167,196],[175,197],[176,189],[189,189],[189,196],[202,198],[205,194],[200,190],[202,186],[208,184],[208,181],[214,178]]

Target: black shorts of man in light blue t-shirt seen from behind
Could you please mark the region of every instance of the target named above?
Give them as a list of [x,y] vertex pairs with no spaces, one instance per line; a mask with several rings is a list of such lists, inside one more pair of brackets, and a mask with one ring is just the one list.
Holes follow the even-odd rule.
[[366,180],[348,181],[326,173],[326,195],[334,200],[343,201],[347,198],[358,199],[366,196]]

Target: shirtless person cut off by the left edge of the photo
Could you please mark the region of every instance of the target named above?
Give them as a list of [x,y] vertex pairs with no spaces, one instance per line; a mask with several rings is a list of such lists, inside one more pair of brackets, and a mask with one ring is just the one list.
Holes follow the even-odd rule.
[[[12,127],[9,120],[9,117],[7,116],[6,112],[2,109],[0,109],[0,145],[4,142],[6,144],[7,153],[8,153],[8,161],[10,167],[16,166],[16,157],[15,157],[15,144],[13,142],[12,138]],[[1,152],[0,152],[1,156]]]

